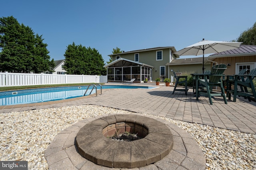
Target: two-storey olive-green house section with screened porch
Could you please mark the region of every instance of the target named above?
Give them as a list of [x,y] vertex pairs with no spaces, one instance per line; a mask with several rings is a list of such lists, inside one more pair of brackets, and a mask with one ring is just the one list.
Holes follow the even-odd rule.
[[135,82],[142,82],[145,77],[148,81],[155,81],[170,77],[170,70],[166,63],[178,58],[174,47],[156,47],[128,51],[119,54],[108,55],[112,62],[106,64],[108,82],[129,81],[135,78]]

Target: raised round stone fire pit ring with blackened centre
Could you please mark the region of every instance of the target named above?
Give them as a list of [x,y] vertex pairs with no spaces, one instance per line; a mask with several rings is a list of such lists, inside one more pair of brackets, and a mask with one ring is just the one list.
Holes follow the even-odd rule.
[[[136,141],[108,139],[118,132],[138,133]],[[76,135],[78,152],[95,164],[135,168],[152,164],[169,154],[173,135],[162,122],[140,115],[110,115],[84,125]]]

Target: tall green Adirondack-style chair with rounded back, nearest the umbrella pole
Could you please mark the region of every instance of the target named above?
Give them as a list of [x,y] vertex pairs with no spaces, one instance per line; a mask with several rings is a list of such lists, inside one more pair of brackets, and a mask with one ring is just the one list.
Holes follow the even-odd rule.
[[[199,95],[208,96],[210,104],[212,104],[212,96],[222,96],[225,104],[228,104],[224,87],[222,84],[223,72],[226,70],[226,64],[217,64],[212,67],[210,74],[195,74],[196,75],[196,100],[198,100]],[[199,77],[204,77],[204,79],[199,79]],[[209,77],[209,79],[208,79]],[[206,90],[198,90],[198,84],[202,84]],[[213,86],[220,87],[221,92],[216,92],[212,90]]]

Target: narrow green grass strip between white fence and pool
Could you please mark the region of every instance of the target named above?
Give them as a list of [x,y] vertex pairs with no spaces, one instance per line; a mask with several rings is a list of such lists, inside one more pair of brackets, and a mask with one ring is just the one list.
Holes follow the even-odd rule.
[[[46,88],[46,87],[60,87],[60,86],[86,86],[89,84],[98,84],[98,83],[77,83],[77,84],[45,84],[45,85],[34,85],[34,86],[8,86],[8,87],[0,87],[0,91],[7,90],[22,90],[29,88]],[[105,83],[100,83],[105,84]]]

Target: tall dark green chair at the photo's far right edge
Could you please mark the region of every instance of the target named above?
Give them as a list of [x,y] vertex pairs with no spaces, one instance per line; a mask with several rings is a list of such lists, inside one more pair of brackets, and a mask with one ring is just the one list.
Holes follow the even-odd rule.
[[[247,77],[244,80],[244,77]],[[250,97],[254,97],[254,100],[256,101],[256,92],[255,87],[253,84],[253,79],[256,77],[256,68],[253,70],[250,70],[250,73],[248,75],[244,74],[235,74],[234,75],[234,81],[229,81],[228,83],[228,89],[227,89],[227,97],[230,100],[231,94],[233,94],[233,102],[236,102],[236,96],[244,96],[248,98],[249,101],[251,101]],[[239,80],[240,78],[240,80]],[[231,89],[232,84],[234,84],[234,90]],[[241,90],[238,90],[238,86],[241,87]],[[247,88],[251,88],[252,93],[248,92]]]

